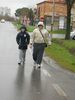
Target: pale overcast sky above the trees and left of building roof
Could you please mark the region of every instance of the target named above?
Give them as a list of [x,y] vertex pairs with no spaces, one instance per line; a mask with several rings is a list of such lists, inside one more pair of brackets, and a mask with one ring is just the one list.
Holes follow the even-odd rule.
[[41,1],[44,0],[0,0],[0,7],[11,8],[11,13],[13,14],[17,8],[32,7]]

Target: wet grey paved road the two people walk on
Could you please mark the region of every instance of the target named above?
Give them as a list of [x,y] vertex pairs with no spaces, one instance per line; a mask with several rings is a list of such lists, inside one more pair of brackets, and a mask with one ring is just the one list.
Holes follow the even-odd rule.
[[51,61],[35,70],[30,49],[25,66],[17,65],[16,34],[11,23],[0,23],[0,100],[75,100],[75,74]]

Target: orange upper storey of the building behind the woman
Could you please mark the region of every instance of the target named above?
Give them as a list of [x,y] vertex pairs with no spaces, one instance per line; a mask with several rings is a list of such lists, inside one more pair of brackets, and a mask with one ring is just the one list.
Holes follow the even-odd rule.
[[66,16],[67,8],[65,2],[62,0],[53,0],[43,1],[37,4],[37,13],[38,16],[52,16],[53,11],[55,16]]

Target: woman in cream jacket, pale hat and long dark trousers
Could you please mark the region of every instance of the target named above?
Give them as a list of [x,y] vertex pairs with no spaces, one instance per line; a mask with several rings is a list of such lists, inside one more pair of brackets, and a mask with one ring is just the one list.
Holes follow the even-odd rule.
[[39,22],[38,28],[34,29],[30,39],[30,47],[33,45],[34,67],[41,68],[43,53],[47,43],[51,45],[49,33],[44,29],[43,22]]

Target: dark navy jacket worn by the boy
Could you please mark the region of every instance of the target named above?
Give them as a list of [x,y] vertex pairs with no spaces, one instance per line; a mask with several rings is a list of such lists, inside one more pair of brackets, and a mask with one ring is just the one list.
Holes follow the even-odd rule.
[[16,41],[19,45],[19,49],[25,50],[30,42],[30,36],[27,32],[19,32],[16,36]]

